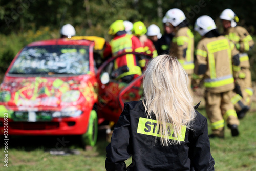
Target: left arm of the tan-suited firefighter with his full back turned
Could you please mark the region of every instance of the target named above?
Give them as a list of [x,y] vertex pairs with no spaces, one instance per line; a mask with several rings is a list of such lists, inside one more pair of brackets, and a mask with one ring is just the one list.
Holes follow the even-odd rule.
[[198,44],[196,50],[196,60],[194,73],[192,75],[192,87],[197,88],[200,81],[203,79],[205,72],[207,71],[207,51],[205,48]]

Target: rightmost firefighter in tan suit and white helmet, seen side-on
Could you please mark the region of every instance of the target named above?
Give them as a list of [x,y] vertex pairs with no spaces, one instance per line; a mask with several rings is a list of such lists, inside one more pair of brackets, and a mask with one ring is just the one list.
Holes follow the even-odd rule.
[[235,89],[231,101],[237,111],[238,118],[243,118],[250,109],[253,95],[250,63],[246,52],[252,48],[254,41],[245,28],[237,26],[236,22],[239,19],[231,9],[225,9],[221,13],[220,19],[222,20],[225,36],[240,51],[238,59],[233,62]]

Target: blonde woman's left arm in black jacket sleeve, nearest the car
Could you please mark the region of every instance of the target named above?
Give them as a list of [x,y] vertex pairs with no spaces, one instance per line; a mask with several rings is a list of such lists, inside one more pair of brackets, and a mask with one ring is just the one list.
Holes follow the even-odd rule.
[[124,161],[127,160],[130,157],[129,154],[131,154],[129,145],[130,131],[129,110],[126,107],[126,104],[124,104],[124,110],[115,126],[111,142],[106,147],[105,168],[107,171],[127,170]]

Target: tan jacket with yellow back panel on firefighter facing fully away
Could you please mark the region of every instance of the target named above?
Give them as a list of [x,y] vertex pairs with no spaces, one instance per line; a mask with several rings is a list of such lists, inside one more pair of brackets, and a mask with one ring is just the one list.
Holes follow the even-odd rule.
[[204,79],[204,86],[209,92],[221,93],[234,89],[231,45],[224,36],[199,41],[192,81],[194,87]]

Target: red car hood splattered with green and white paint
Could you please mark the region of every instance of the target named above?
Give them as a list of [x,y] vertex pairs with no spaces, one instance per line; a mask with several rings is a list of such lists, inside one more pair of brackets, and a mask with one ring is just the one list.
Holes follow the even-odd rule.
[[9,78],[1,84],[0,98],[21,111],[59,110],[67,106],[83,110],[92,108],[91,103],[97,99],[95,84],[90,75]]

